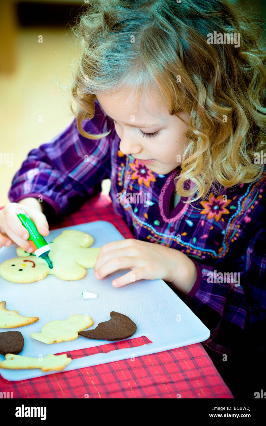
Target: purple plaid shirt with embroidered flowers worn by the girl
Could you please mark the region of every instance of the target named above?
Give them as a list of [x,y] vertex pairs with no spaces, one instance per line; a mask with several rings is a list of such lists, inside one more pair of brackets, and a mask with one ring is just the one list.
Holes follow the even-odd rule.
[[253,183],[222,188],[193,207],[181,198],[171,208],[173,178],[180,167],[158,175],[121,153],[113,121],[97,101],[94,118],[82,127],[94,134],[111,132],[87,139],[75,118],[52,141],[30,151],[13,178],[10,201],[42,195],[56,214],[70,213],[110,178],[114,210],[136,239],[181,250],[195,262],[197,279],[184,300],[211,331],[205,345],[217,354],[230,354],[249,340],[263,350],[265,171]]

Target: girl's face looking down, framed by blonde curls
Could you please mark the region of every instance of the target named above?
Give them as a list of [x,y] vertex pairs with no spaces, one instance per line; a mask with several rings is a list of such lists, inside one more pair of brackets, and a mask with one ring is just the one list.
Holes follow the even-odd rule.
[[[121,139],[120,151],[144,162],[157,174],[167,174],[181,164],[180,158],[188,143],[189,115],[179,112],[170,115],[167,108],[152,95],[141,98],[134,109],[133,96],[99,94],[100,106],[114,120],[115,130]],[[179,157],[180,155],[180,157]]]

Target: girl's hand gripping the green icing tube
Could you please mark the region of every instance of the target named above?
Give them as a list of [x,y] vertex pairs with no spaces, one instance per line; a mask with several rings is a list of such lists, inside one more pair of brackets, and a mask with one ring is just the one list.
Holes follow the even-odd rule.
[[[36,203],[38,203],[37,200]],[[49,234],[47,219],[37,204],[36,207],[29,207],[23,204],[23,200],[21,200],[19,204],[9,203],[0,210],[0,248],[3,246],[9,247],[12,242],[15,242],[28,253],[31,253],[32,247],[27,241],[29,232],[18,219],[16,210],[24,210],[30,219],[32,219],[32,222],[42,236],[47,236]]]

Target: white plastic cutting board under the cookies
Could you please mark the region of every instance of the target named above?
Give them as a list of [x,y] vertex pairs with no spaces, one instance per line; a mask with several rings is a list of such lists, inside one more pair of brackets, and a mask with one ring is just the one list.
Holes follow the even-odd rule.
[[[97,221],[52,230],[46,237],[47,242],[51,242],[65,229],[76,229],[92,235],[94,237],[92,247],[101,247],[108,242],[124,239],[114,225]],[[0,263],[17,257],[16,247],[13,245],[1,248]],[[40,282],[29,284],[15,284],[0,276],[0,301],[6,301],[6,309],[16,310],[20,315],[27,317],[39,317],[39,321],[34,324],[10,329],[23,334],[24,347],[20,355],[40,357],[41,354],[45,357],[47,354],[110,343],[106,340],[91,340],[80,336],[70,342],[47,345],[30,337],[32,332],[39,333],[47,322],[66,320],[74,314],[87,314],[92,317],[94,325],[90,329],[93,329],[99,322],[109,320],[111,311],[120,312],[130,317],[137,325],[136,333],[129,339],[146,336],[152,343],[72,360],[63,371],[153,354],[208,339],[210,336],[208,328],[162,279],[136,281],[120,288],[111,285],[114,278],[128,271],[120,270],[105,279],[97,280],[94,269],[87,269],[85,278],[79,281],[62,281],[56,276],[49,275]],[[98,297],[82,299],[82,290],[96,293]],[[8,330],[1,328],[0,332]],[[0,361],[4,359],[5,357],[0,354]],[[55,372],[43,373],[41,369],[0,368],[0,374],[7,380],[24,380],[52,373]]]

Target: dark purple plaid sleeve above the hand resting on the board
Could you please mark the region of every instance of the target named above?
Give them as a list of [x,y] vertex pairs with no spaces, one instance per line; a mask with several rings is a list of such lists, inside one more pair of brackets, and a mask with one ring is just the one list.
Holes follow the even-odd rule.
[[249,240],[244,259],[239,259],[239,272],[237,268],[235,273],[225,272],[221,265],[217,270],[202,264],[197,269],[201,279],[186,303],[210,329],[208,346],[216,352],[238,350],[245,338],[246,343],[251,339],[260,350],[265,348],[265,241],[266,230],[261,227]]

